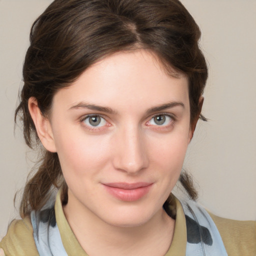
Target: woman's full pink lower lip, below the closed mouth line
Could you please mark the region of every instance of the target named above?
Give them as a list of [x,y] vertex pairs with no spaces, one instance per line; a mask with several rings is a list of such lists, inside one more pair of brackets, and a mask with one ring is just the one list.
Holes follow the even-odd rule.
[[104,185],[105,189],[114,197],[122,201],[136,201],[146,195],[152,184],[148,186],[142,186],[134,189],[123,189],[119,187],[113,187]]

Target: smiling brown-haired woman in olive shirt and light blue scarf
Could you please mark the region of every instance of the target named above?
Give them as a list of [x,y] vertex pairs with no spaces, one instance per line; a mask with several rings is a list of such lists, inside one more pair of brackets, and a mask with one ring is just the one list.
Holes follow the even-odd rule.
[[177,0],[55,0],[39,16],[16,116],[42,161],[5,255],[255,252],[255,223],[209,215],[181,173],[207,78],[199,37]]

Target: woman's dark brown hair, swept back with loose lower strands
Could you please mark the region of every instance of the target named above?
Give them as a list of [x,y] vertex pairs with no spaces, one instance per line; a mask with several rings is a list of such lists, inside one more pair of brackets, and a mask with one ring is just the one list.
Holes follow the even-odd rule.
[[[98,59],[116,51],[144,48],[189,79],[190,123],[200,114],[199,97],[207,66],[198,46],[200,30],[178,0],[54,0],[34,21],[24,65],[24,85],[15,111],[23,122],[26,144],[40,143],[28,111],[35,97],[46,117],[54,93],[70,85]],[[196,197],[189,176],[180,181]],[[42,149],[38,170],[27,181],[20,215],[39,209],[52,187],[64,184],[57,153]]]

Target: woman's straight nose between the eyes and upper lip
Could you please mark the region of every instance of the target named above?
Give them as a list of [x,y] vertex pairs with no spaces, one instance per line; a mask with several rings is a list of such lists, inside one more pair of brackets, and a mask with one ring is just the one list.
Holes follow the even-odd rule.
[[114,148],[115,169],[136,175],[148,166],[145,138],[138,128],[125,128],[118,132]]

